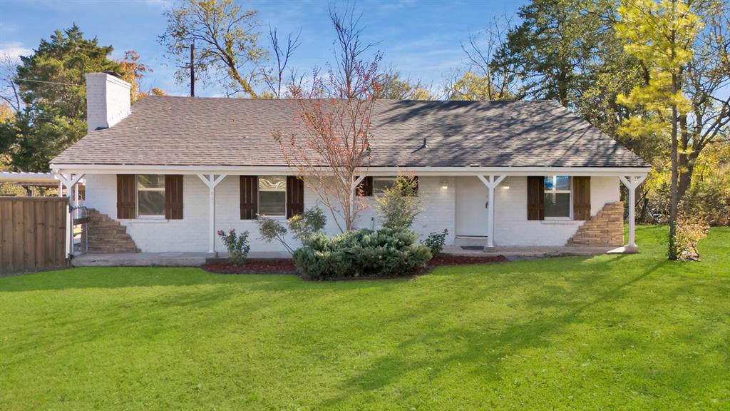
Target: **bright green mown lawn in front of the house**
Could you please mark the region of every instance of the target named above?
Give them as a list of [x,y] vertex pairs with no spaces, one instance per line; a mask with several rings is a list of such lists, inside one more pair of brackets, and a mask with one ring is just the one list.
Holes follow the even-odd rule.
[[730,408],[730,229],[641,254],[304,282],[195,268],[0,279],[0,410]]

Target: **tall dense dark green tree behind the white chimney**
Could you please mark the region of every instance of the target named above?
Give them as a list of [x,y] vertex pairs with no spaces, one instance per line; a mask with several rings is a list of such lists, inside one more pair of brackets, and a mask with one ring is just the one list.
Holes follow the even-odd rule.
[[50,159],[86,133],[85,73],[120,72],[112,46],[85,38],[78,26],[56,30],[31,56],[20,57],[13,81],[22,108],[0,125],[15,170],[46,171]]

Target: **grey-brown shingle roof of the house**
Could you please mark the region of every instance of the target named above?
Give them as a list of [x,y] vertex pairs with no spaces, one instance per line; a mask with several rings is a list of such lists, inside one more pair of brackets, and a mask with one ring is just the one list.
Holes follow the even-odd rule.
[[[150,96],[53,159],[83,165],[285,165],[294,100]],[[556,102],[380,100],[372,167],[648,167]],[[423,148],[426,138],[427,148]]]

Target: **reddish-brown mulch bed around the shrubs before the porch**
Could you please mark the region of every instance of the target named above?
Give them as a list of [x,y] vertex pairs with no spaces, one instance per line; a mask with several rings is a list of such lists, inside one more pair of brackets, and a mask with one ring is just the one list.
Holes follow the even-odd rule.
[[[464,265],[464,264],[485,264],[502,263],[507,258],[499,255],[496,257],[481,257],[470,255],[447,255],[440,254],[429,261],[429,268],[438,265]],[[227,260],[209,260],[201,265],[205,271],[218,274],[296,274],[296,267],[293,260],[246,260],[242,265],[230,263]],[[423,272],[430,271],[428,268]],[[368,279],[384,277],[366,277]],[[345,279],[365,279],[365,277],[346,277]]]

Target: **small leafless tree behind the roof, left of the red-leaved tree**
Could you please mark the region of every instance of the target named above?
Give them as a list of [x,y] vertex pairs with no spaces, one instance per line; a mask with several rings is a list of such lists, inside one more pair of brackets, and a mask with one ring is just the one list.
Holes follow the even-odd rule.
[[282,44],[277,29],[269,26],[269,41],[271,42],[273,59],[276,65],[273,68],[261,69],[261,77],[264,78],[264,83],[269,88],[266,94],[270,93],[270,97],[280,99],[284,97],[288,88],[301,88],[302,76],[299,75],[297,70],[290,68],[287,73],[289,59],[301,45],[299,42],[300,34],[301,30],[296,34],[296,37],[291,33],[288,34],[286,43]]

